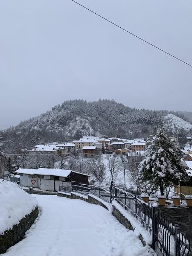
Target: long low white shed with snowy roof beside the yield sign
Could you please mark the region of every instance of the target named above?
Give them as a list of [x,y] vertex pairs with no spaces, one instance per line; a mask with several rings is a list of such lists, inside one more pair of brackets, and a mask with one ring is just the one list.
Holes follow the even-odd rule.
[[20,186],[34,187],[47,191],[59,191],[59,186],[72,186],[79,183],[88,184],[89,175],[61,169],[18,169]]

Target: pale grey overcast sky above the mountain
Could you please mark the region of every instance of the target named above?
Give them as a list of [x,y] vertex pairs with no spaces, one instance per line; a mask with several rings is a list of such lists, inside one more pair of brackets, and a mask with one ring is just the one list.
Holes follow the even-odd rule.
[[[192,64],[191,0],[78,0]],[[0,129],[67,99],[192,111],[192,67],[71,0],[0,0]]]

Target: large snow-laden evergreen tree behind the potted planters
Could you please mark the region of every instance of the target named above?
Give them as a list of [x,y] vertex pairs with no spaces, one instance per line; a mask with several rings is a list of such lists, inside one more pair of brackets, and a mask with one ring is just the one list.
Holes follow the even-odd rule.
[[166,135],[163,126],[148,142],[144,160],[140,163],[137,181],[145,190],[160,188],[161,195],[169,186],[178,185],[179,181],[188,180],[187,166],[180,158],[179,145]]

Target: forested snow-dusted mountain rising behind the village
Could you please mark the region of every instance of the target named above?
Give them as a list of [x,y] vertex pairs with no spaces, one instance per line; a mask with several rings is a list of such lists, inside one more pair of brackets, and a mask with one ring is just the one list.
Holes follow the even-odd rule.
[[[9,151],[14,148],[30,148],[37,143],[71,141],[83,135],[146,138],[154,134],[164,117],[171,113],[185,122],[188,121],[183,113],[139,110],[114,100],[68,100],[53,107],[51,111],[0,131],[0,136]],[[165,119],[165,122],[167,129],[172,130],[168,120]],[[185,125],[183,128],[185,129]]]

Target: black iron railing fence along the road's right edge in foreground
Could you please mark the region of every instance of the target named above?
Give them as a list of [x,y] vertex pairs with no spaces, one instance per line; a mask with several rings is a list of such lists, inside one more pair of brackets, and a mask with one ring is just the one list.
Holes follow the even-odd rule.
[[179,227],[166,216],[146,203],[132,190],[113,189],[114,199],[131,215],[143,224],[145,230],[152,235],[152,247],[163,256],[189,256],[192,253],[190,241],[180,233]]

